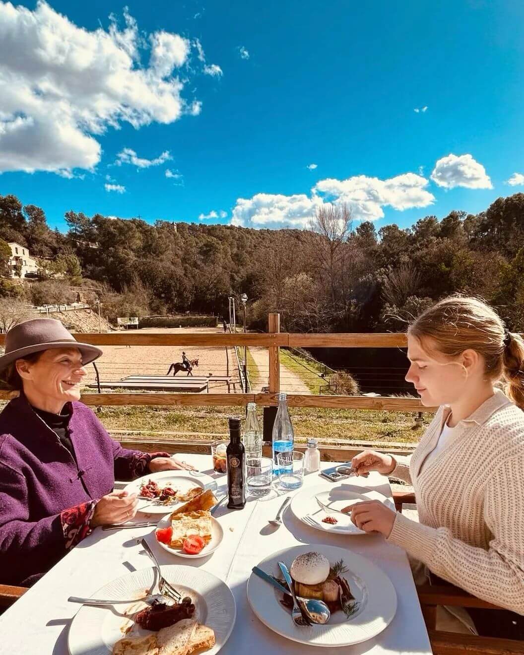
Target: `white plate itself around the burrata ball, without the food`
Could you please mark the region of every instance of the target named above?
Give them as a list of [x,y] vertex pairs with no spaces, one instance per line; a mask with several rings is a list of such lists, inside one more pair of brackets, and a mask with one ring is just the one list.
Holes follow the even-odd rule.
[[366,557],[345,548],[306,544],[269,555],[258,567],[282,578],[278,561],[284,561],[290,569],[297,555],[310,551],[322,553],[331,565],[341,559],[344,561],[349,569],[344,577],[358,603],[354,614],[347,618],[343,612],[338,611],[331,614],[329,622],[324,626],[295,626],[290,610],[280,603],[282,593],[252,573],[248,580],[248,601],[261,622],[282,637],[310,646],[350,646],[381,633],[395,616],[397,595],[388,576]]

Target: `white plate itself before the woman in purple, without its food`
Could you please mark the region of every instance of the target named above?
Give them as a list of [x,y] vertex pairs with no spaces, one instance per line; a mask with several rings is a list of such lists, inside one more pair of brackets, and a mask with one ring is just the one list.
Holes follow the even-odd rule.
[[[136,480],[130,482],[125,491],[129,493],[140,494],[140,486],[142,483],[147,483],[148,480],[154,480],[159,487],[173,487],[185,493],[193,487],[202,487],[202,489],[216,489],[215,480],[206,476],[204,473],[198,471],[160,471],[159,473],[150,473],[147,476],[138,477]],[[138,499],[138,512],[142,514],[171,514],[176,508],[185,504],[184,502],[175,502],[172,505],[162,505],[155,502],[153,498],[139,498]]]

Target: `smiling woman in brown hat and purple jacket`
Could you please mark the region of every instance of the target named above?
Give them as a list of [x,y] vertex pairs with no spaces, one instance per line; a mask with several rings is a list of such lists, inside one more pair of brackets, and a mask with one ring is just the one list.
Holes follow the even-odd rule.
[[49,318],[5,337],[0,376],[18,397],[0,413],[3,584],[33,584],[94,527],[132,518],[136,495],[113,491],[115,477],[193,468],[122,448],[79,402],[84,366],[101,354]]

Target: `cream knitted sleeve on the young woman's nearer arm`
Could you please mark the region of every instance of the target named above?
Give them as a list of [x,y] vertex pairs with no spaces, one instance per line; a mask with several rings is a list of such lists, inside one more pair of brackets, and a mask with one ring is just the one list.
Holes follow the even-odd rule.
[[487,480],[483,519],[487,550],[397,514],[388,541],[404,548],[444,580],[524,614],[524,455],[508,458]]

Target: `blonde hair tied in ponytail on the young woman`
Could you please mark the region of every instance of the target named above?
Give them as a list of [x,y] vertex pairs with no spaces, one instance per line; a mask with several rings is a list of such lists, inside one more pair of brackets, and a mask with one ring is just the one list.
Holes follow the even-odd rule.
[[429,307],[407,329],[434,340],[438,352],[457,357],[472,349],[483,356],[489,379],[504,379],[504,391],[524,409],[524,341],[508,332],[494,309],[477,298],[450,296]]

